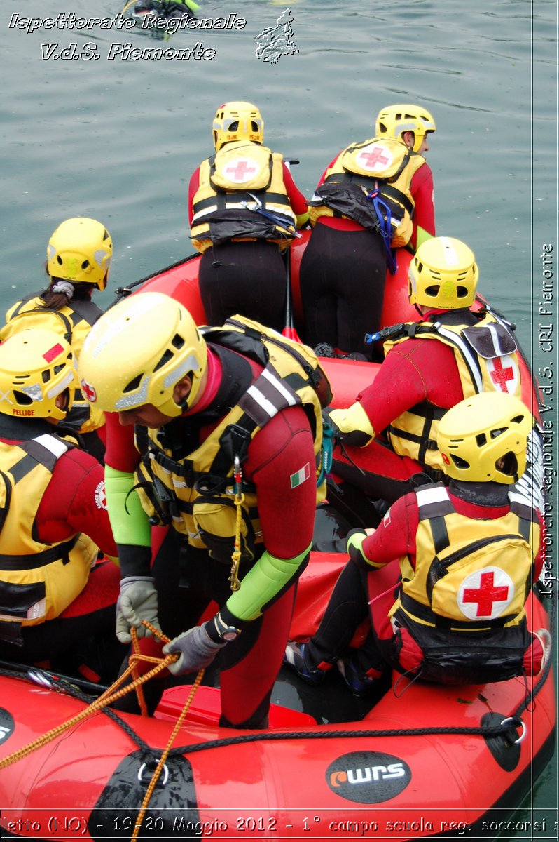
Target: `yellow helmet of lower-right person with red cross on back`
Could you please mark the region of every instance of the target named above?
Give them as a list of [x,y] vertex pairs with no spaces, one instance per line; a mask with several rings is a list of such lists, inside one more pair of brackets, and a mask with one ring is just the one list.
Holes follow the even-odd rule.
[[524,403],[504,392],[482,392],[457,403],[441,419],[437,434],[446,474],[512,485],[525,472],[533,425]]

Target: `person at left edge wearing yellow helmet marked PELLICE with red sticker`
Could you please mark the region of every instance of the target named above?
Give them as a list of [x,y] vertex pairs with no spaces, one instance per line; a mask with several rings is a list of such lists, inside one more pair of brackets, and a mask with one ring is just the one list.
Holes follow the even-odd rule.
[[0,344],[0,658],[62,669],[83,656],[88,679],[113,680],[120,576],[98,548],[117,548],[103,467],[65,427],[75,388],[59,334],[32,328]]

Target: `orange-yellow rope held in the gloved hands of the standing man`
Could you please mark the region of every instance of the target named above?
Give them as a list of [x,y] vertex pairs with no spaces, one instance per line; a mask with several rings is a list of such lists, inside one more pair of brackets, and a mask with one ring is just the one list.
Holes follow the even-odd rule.
[[[150,632],[154,635],[154,637],[157,637],[159,640],[161,640],[161,642],[165,642],[165,643],[170,642],[169,637],[166,637],[165,635],[161,634],[161,632],[159,632],[159,630],[156,629],[154,626],[152,626],[149,622],[143,621],[143,625],[150,630]],[[131,632],[132,632],[132,644],[133,644],[133,650],[134,651],[129,657],[129,665],[128,665],[127,669],[124,670],[122,675],[119,675],[119,678],[116,679],[116,681],[113,682],[113,685],[108,687],[107,690],[104,690],[103,693],[100,696],[98,696],[98,699],[96,699],[95,701],[92,701],[92,703],[90,705],[88,705],[84,710],[77,713],[76,716],[71,717],[70,719],[67,719],[66,722],[61,722],[60,725],[57,725],[56,727],[51,728],[50,731],[48,731],[45,734],[42,734],[41,737],[38,737],[38,738],[34,739],[31,743],[28,743],[27,745],[22,746],[21,749],[18,749],[17,751],[14,751],[12,754],[8,754],[7,757],[4,757],[3,759],[0,759],[0,769],[5,769],[7,766],[15,763],[17,760],[20,760],[20,759],[26,757],[28,754],[31,754],[36,749],[40,749],[42,746],[46,745],[47,743],[50,743],[55,738],[60,737],[62,733],[64,733],[69,728],[73,727],[74,725],[79,724],[79,722],[82,722],[84,719],[87,719],[87,717],[91,716],[93,713],[98,713],[99,711],[105,710],[105,708],[108,705],[112,704],[113,701],[117,701],[117,699],[122,698],[122,696],[126,695],[131,690],[135,690],[135,692],[136,692],[136,696],[138,698],[138,703],[140,705],[140,711],[142,712],[142,716],[145,716],[145,717],[147,716],[147,709],[146,709],[146,706],[145,706],[145,698],[144,698],[144,692],[142,690],[142,685],[145,684],[150,679],[152,679],[156,674],[160,673],[163,669],[166,669],[167,666],[170,663],[173,663],[174,661],[177,661],[177,659],[180,657],[180,655],[175,653],[175,654],[166,655],[165,658],[153,658],[153,657],[150,657],[149,655],[143,655],[142,653],[140,653],[140,647],[138,645],[138,635],[137,635],[136,630],[134,628],[132,628]],[[148,672],[146,672],[145,674],[140,675],[140,674],[138,674],[138,665],[139,665],[140,661],[144,661],[145,663],[155,663],[156,665],[152,669],[150,669]],[[37,672],[40,675],[40,670],[38,670]],[[167,744],[166,744],[166,748],[163,750],[163,752],[161,752],[161,757],[157,761],[156,769],[154,770],[153,775],[151,775],[150,782],[147,786],[147,789],[145,791],[145,796],[144,796],[144,799],[143,799],[141,807],[140,807],[140,813],[138,814],[138,818],[136,819],[136,822],[134,823],[134,833],[131,836],[132,840],[138,838],[138,834],[140,833],[141,823],[142,823],[142,821],[145,817],[145,813],[146,813],[148,805],[150,803],[151,795],[156,788],[156,783],[159,780],[159,777],[161,775],[161,771],[165,768],[166,760],[168,759],[169,754],[171,754],[172,743],[174,743],[175,738],[177,737],[177,733],[179,732],[179,730],[182,727],[182,723],[184,722],[184,719],[187,715],[188,709],[192,704],[192,699],[194,698],[196,690],[198,690],[200,682],[203,679],[203,674],[204,674],[204,670],[200,669],[198,671],[196,679],[194,680],[194,684],[192,685],[190,693],[188,694],[187,701],[185,702],[184,706],[182,707],[181,714],[180,714],[179,717],[177,717],[177,722],[175,722],[175,725],[172,729],[171,735],[170,735],[170,737],[167,741]],[[21,675],[19,675],[19,677],[21,677]],[[37,680],[37,678],[34,677],[33,671],[29,672],[29,677],[31,677],[34,680]],[[124,681],[126,681],[129,678],[132,679],[130,681],[130,683],[127,684],[127,685],[121,686],[121,685],[124,684]],[[45,681],[41,681],[40,683],[44,686],[49,685],[49,679],[45,679]],[[109,711],[105,711],[105,712],[109,712]],[[113,713],[113,711],[110,711],[110,712]],[[116,714],[113,713],[112,718],[119,725],[124,725],[124,722]],[[132,731],[132,729],[125,728],[124,730],[126,730],[126,732],[129,733],[129,734],[130,734],[130,732],[134,733]],[[141,742],[143,743],[144,741],[142,740]],[[147,745],[147,743],[144,743],[144,745],[145,745],[146,749],[148,749],[150,752],[153,752],[153,749],[150,749],[150,747]],[[157,751],[157,754],[160,754],[160,751]],[[173,754],[177,754],[177,753],[173,752]]]

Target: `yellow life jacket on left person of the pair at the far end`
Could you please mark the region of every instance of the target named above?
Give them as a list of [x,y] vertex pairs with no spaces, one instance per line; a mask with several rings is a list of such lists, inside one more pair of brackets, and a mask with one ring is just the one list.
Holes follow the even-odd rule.
[[285,246],[296,233],[279,152],[232,141],[200,164],[190,232],[199,252],[227,240],[264,239]]

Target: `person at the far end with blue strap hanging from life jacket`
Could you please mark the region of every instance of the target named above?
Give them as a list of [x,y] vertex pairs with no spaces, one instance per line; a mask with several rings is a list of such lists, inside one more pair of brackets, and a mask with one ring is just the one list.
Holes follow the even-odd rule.
[[324,170],[309,202],[313,233],[300,269],[304,340],[322,356],[372,356],[394,248],[435,235],[433,173],[425,161],[435,120],[414,104],[390,105],[375,136],[352,143]]

